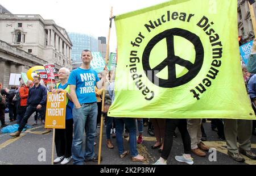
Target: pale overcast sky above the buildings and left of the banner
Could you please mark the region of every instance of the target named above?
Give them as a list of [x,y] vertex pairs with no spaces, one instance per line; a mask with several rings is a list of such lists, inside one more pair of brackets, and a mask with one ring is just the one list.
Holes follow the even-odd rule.
[[[39,14],[43,19],[53,19],[68,32],[108,36],[110,8],[113,15],[143,9],[167,0],[1,0],[13,14]],[[116,48],[115,27],[110,35],[110,52]]]

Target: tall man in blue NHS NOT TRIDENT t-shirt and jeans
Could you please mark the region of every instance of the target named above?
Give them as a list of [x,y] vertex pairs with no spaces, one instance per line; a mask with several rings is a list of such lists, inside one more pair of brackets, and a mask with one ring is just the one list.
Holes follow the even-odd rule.
[[[94,87],[101,89],[104,79],[99,79],[97,72],[90,68],[92,53],[82,51],[82,66],[72,71],[68,79],[73,108],[74,135],[72,143],[73,164],[82,165],[84,161],[98,162],[94,153],[96,121],[98,114],[97,99]],[[103,77],[105,78],[105,76]],[[85,153],[82,151],[82,139],[86,132]]]

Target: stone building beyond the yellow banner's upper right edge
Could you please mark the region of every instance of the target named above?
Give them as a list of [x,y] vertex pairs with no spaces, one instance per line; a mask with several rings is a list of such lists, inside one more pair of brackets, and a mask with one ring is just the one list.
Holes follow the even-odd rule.
[[[256,16],[256,3],[253,3],[254,15]],[[242,36],[242,43],[246,43],[255,38],[253,31],[253,23],[251,19],[249,4],[247,0],[238,0],[237,9],[238,32]],[[255,19],[254,19],[255,20]],[[230,29],[232,30],[232,29]]]

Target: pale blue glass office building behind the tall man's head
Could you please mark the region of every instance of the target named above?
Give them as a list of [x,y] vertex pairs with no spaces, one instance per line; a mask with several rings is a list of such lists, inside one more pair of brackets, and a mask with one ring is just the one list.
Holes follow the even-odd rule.
[[72,61],[81,61],[81,52],[85,49],[89,49],[92,52],[98,52],[98,39],[92,35],[83,33],[68,32],[68,35],[72,41]]

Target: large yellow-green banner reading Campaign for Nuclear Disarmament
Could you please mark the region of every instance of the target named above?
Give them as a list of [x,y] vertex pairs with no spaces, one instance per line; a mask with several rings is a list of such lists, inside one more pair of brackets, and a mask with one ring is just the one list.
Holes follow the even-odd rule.
[[237,1],[173,0],[115,17],[109,116],[255,119],[240,64]]

